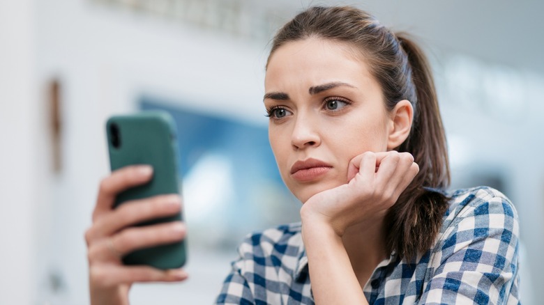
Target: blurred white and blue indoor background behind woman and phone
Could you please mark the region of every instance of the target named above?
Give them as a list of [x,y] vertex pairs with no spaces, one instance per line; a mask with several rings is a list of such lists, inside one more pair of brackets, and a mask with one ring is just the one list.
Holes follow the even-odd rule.
[[[213,302],[245,234],[299,217],[266,137],[269,41],[299,10],[338,3],[0,1],[0,304],[89,304],[83,235],[109,173],[105,120],[142,109],[165,109],[178,123],[191,276],[136,285],[131,302]],[[428,52],[452,187],[490,185],[511,198],[520,215],[522,301],[537,304],[544,2],[354,5],[413,33]]]

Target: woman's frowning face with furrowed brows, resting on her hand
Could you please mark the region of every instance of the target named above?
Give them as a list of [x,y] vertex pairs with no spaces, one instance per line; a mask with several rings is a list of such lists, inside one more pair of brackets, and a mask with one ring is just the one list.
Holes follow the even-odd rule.
[[280,174],[303,203],[347,183],[349,161],[386,151],[393,123],[377,81],[347,44],[308,38],[269,59],[264,104]]

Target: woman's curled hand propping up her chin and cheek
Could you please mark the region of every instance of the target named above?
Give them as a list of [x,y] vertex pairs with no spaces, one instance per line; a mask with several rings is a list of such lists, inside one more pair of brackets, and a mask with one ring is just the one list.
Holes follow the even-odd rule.
[[366,152],[349,162],[345,185],[322,191],[301,209],[305,221],[319,221],[342,236],[346,228],[382,219],[419,171],[409,153]]

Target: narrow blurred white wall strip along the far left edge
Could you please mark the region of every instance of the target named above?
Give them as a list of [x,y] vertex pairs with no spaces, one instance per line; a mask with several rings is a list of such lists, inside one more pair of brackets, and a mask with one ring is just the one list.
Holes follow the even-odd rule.
[[33,229],[40,205],[33,9],[31,0],[0,3],[1,304],[33,299]]

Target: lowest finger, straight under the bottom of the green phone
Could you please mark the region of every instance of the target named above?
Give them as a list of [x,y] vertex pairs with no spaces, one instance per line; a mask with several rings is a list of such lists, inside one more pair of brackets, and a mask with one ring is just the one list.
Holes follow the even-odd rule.
[[161,270],[149,266],[124,266],[112,264],[93,265],[89,268],[93,286],[109,288],[135,282],[174,282],[183,281],[188,274],[183,269]]

